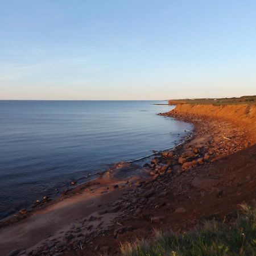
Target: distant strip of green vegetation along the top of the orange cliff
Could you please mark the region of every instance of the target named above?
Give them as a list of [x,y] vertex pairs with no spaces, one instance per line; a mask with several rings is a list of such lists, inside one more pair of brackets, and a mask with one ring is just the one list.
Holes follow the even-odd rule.
[[242,96],[240,98],[195,98],[170,100],[170,105],[176,104],[213,104],[213,105],[228,105],[228,104],[256,104],[256,96]]

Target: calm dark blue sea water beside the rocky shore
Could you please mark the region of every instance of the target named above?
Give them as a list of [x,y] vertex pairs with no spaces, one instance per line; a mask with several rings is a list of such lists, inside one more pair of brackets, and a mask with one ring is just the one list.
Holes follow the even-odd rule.
[[108,164],[174,147],[191,125],[156,115],[174,108],[156,103],[0,101],[0,218]]

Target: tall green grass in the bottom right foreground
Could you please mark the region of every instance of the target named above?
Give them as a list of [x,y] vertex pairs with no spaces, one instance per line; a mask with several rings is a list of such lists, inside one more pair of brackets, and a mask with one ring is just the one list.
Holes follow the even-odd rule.
[[122,255],[256,255],[256,207],[242,209],[234,224],[212,221],[185,234],[156,232],[154,240],[121,245]]

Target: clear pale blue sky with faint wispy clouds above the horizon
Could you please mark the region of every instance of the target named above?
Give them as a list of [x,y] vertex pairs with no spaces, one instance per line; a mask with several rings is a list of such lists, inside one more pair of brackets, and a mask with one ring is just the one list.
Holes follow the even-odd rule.
[[255,0],[0,0],[0,100],[252,94]]

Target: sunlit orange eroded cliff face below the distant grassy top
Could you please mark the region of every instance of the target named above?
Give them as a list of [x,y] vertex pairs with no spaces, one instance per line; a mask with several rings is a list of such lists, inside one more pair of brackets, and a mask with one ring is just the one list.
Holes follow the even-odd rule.
[[179,101],[169,101],[176,105],[172,113],[195,115],[200,118],[218,118],[234,123],[246,130],[253,143],[256,143],[256,105],[213,105],[213,104],[183,104]]

